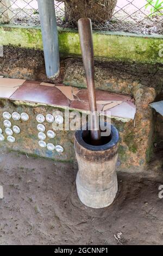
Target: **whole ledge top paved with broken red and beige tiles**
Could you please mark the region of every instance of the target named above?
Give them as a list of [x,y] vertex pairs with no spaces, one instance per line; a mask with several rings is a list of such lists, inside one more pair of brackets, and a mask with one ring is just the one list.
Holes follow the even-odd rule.
[[[0,97],[58,106],[70,105],[74,109],[90,111],[87,89],[68,87],[64,86],[64,84],[55,85],[51,83],[40,83],[39,81],[1,78]],[[112,117],[124,119],[134,119],[135,117],[136,107],[131,102],[130,96],[96,90],[96,99],[98,112],[103,111],[106,114],[108,110],[111,112]],[[69,100],[72,101],[71,104]]]

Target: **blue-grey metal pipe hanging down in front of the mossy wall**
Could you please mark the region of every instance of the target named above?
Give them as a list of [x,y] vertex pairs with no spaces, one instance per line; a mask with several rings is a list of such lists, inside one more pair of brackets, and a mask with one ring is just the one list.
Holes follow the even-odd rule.
[[59,44],[54,0],[38,0],[46,74],[55,78],[60,72]]

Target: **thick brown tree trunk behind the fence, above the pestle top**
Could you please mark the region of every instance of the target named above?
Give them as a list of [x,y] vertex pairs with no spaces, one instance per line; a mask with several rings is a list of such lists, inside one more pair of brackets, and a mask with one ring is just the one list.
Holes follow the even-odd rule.
[[64,2],[65,20],[70,23],[77,23],[83,17],[105,23],[111,19],[117,4],[117,0],[64,0]]

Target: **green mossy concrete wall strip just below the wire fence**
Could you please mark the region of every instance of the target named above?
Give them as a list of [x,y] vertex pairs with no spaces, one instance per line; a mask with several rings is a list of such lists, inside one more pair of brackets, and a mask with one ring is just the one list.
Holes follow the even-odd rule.
[[[81,56],[78,31],[58,28],[61,57]],[[162,35],[94,32],[95,58],[138,63],[163,63]],[[42,50],[40,27],[0,26],[0,45]]]

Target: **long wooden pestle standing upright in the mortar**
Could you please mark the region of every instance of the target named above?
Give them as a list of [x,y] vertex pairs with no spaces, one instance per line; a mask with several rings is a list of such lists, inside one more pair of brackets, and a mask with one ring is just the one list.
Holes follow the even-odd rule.
[[[89,97],[90,110],[97,113],[96,94],[95,94],[95,75],[94,75],[94,54],[93,54],[93,36],[92,23],[89,18],[83,18],[78,21],[80,47],[83,57],[83,65],[86,76],[87,91]],[[99,130],[98,115],[92,115],[91,140],[93,144],[99,144],[101,141],[101,132]]]

